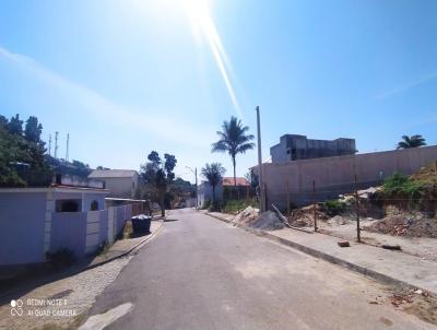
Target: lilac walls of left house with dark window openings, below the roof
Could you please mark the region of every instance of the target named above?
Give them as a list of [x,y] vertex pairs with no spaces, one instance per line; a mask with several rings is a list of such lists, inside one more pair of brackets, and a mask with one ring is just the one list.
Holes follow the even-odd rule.
[[46,252],[61,246],[71,247],[78,257],[96,248],[107,193],[68,186],[1,188],[0,266],[43,262]]

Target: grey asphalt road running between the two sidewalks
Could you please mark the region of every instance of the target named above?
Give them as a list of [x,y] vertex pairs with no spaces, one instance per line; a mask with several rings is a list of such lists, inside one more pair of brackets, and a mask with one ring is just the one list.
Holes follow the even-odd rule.
[[91,315],[125,304],[106,329],[435,329],[369,304],[388,293],[343,268],[193,210],[170,217],[97,298]]

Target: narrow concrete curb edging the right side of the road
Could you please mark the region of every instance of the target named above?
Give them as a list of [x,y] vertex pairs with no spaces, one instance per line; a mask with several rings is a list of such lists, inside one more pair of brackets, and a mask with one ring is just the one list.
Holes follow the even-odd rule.
[[[206,215],[209,215],[211,217],[217,219],[220,221],[223,221],[225,223],[232,223],[232,221],[229,221],[229,220],[222,219],[220,216],[210,214],[208,212],[204,213],[204,214],[206,214]],[[418,286],[416,286],[414,284],[398,280],[395,278],[392,278],[392,276],[386,275],[383,273],[374,271],[374,270],[368,269],[366,267],[363,267],[363,266],[359,266],[359,264],[356,264],[356,263],[352,263],[350,261],[340,259],[338,257],[321,252],[319,250],[312,249],[310,247],[304,246],[304,245],[295,243],[293,240],[288,240],[288,239],[285,239],[285,238],[282,238],[282,237],[277,237],[277,236],[272,235],[272,234],[270,234],[270,233],[268,233],[265,231],[250,228],[250,227],[247,227],[247,226],[237,226],[237,227],[239,227],[239,228],[241,228],[241,229],[244,229],[246,232],[249,232],[251,234],[255,234],[257,236],[264,237],[264,238],[268,238],[270,240],[280,243],[282,245],[295,248],[296,250],[299,250],[299,251],[302,251],[304,254],[310,255],[310,256],[312,256],[315,258],[326,260],[326,261],[331,262],[333,264],[339,264],[339,266],[345,267],[345,268],[351,269],[351,270],[353,270],[353,271],[355,271],[357,273],[361,273],[361,274],[363,274],[363,275],[365,275],[367,278],[371,278],[375,281],[378,281],[379,283],[387,284],[387,285],[393,285],[393,286],[412,286],[412,287],[415,287],[415,288],[421,288],[421,290],[423,290],[425,292],[429,292],[429,290],[418,287]],[[437,294],[437,293],[433,292],[433,294]]]

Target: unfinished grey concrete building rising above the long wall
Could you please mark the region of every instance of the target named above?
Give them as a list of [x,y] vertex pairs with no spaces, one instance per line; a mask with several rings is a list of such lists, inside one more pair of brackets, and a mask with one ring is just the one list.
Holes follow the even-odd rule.
[[272,163],[353,155],[356,153],[355,140],[312,140],[306,135],[285,134],[280,143],[270,148]]

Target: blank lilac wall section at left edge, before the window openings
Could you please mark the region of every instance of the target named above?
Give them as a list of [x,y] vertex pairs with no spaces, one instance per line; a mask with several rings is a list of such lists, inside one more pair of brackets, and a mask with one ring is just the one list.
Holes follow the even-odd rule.
[[47,192],[0,193],[0,264],[44,260]]

